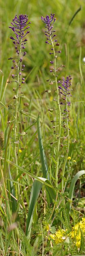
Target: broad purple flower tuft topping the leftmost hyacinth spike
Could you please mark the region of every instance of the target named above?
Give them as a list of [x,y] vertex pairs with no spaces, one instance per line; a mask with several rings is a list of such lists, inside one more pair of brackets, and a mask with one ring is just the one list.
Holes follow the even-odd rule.
[[[26,35],[30,32],[28,29],[30,28],[30,26],[28,26],[29,24],[31,24],[31,22],[28,22],[28,16],[25,14],[20,14],[19,17],[17,17],[17,15],[15,16],[15,18],[13,19],[13,22],[11,22],[12,26],[9,26],[9,28],[11,28],[16,36],[16,38],[14,37],[10,37],[10,39],[13,40],[13,44],[15,45],[15,49],[16,49],[16,53],[18,54],[18,61],[19,63],[22,62],[23,56],[26,55],[26,52],[21,52],[21,49],[25,49],[25,44],[28,41],[27,39],[25,39]],[[8,58],[13,59],[13,64],[14,66],[11,67],[11,69],[15,69],[17,70],[18,68],[18,63],[16,62],[16,60],[14,60],[14,58]],[[17,58],[15,58],[17,59]],[[23,71],[25,65],[22,65],[21,71]],[[15,75],[12,74],[12,78],[15,78]]]

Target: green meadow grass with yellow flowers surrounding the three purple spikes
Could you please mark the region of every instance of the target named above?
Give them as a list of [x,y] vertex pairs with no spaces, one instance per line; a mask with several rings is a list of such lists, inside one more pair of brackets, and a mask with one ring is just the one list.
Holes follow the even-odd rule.
[[[80,8],[81,4],[81,8]],[[85,195],[85,1],[1,0],[0,8],[0,255],[84,255]],[[74,13],[79,12],[71,21]],[[31,22],[24,56],[25,85],[20,106],[20,144],[18,164],[14,159],[13,126],[16,84],[7,83],[12,75],[15,56],[8,28],[12,19],[27,14]],[[44,17],[55,13],[57,40],[61,55],[57,63],[65,65],[58,80],[72,76],[69,124],[69,153],[62,186],[65,147],[59,157],[56,188],[56,135],[53,123],[57,111],[54,93],[46,80],[49,74],[49,46],[45,44]],[[57,127],[56,127],[57,132]],[[4,134],[4,138],[3,137]],[[17,148],[17,144],[16,144]],[[74,161],[75,160],[75,161]],[[16,172],[17,167],[17,172]],[[81,172],[80,172],[81,171]],[[20,192],[18,191],[18,188]],[[69,198],[69,200],[68,200]],[[73,199],[73,201],[72,201]],[[82,219],[83,218],[83,219]],[[79,224],[78,224],[79,223]],[[78,226],[77,226],[78,225]],[[31,228],[32,226],[32,228]],[[74,231],[73,231],[74,228]],[[62,231],[62,230],[65,230]],[[58,233],[57,233],[58,232]],[[72,233],[74,232],[74,233]],[[63,239],[62,239],[63,237]],[[79,244],[77,244],[77,241]]]

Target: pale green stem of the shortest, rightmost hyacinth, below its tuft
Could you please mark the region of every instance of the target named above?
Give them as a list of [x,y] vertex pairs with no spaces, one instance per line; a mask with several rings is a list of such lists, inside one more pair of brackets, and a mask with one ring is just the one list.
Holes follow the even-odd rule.
[[[67,95],[66,95],[66,110],[67,110]],[[66,150],[66,156],[62,168],[62,192],[64,190],[64,173],[65,173],[65,167],[66,167],[66,161],[68,157],[68,152],[69,152],[69,126],[68,126],[68,112],[66,112],[66,125],[67,125],[67,150]]]

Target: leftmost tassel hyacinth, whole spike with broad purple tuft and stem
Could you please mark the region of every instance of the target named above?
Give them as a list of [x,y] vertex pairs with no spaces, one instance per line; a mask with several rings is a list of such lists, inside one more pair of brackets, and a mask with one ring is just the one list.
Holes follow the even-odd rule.
[[[17,57],[16,58],[8,58],[9,60],[13,60],[13,65],[11,69],[14,71],[12,74],[13,81],[9,81],[8,83],[16,82],[17,88],[13,88],[16,95],[14,95],[15,100],[15,112],[14,112],[14,157],[16,165],[19,164],[19,119],[20,119],[20,102],[21,102],[21,85],[24,84],[24,77],[22,72],[24,70],[25,65],[22,64],[23,57],[26,55],[26,52],[23,51],[25,49],[25,44],[28,41],[26,39],[26,35],[30,32],[28,29],[30,28],[28,22],[28,16],[25,14],[20,14],[19,17],[17,15],[11,22],[12,26],[9,28],[12,29],[16,38],[13,36],[10,39],[13,40],[13,44],[16,49]],[[18,134],[18,143],[16,142],[16,137]],[[16,151],[16,144],[18,145],[18,152]],[[18,160],[17,160],[18,153]],[[18,175],[18,169],[16,168],[16,176]],[[17,193],[19,197],[19,186],[17,188]]]

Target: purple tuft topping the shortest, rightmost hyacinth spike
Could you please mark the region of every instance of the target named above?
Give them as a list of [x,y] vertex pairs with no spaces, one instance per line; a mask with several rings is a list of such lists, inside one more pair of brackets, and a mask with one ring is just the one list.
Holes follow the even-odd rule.
[[[58,86],[58,88],[62,90],[60,91],[59,94],[62,94],[64,96],[63,100],[66,100],[66,97],[72,96],[70,93],[70,91],[72,90],[70,89],[70,86],[72,85],[71,80],[72,80],[72,77],[71,75],[69,75],[69,76],[66,76],[66,79],[65,77],[63,77],[63,81],[58,81],[58,83],[62,85],[62,86]],[[63,102],[60,102],[60,104],[65,105]],[[70,101],[67,101],[67,105],[70,106]]]

